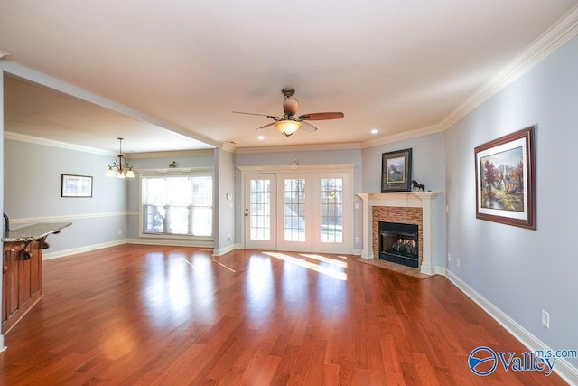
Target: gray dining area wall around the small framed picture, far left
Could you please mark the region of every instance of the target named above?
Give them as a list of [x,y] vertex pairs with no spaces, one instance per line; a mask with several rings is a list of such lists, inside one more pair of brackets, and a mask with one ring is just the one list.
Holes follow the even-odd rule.
[[[105,177],[114,155],[11,139],[5,139],[4,146],[4,212],[12,220],[11,228],[33,222],[72,222],[60,234],[48,237],[51,248],[44,252],[46,256],[126,238],[126,181]],[[92,176],[93,196],[61,197],[61,174]]]

